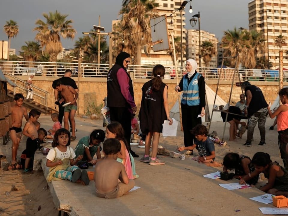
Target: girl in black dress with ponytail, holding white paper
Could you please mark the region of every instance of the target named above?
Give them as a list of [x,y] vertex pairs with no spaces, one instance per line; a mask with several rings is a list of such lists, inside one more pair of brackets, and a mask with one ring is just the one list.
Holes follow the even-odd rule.
[[[157,158],[160,133],[164,120],[169,120],[170,125],[173,121],[169,117],[168,109],[168,86],[162,82],[165,74],[163,65],[158,64],[153,68],[153,79],[146,82],[142,87],[142,100],[139,112],[140,128],[143,134],[147,135],[145,139],[145,155],[140,161],[150,165],[163,165],[165,162]],[[152,155],[149,158],[149,150],[152,142]]]

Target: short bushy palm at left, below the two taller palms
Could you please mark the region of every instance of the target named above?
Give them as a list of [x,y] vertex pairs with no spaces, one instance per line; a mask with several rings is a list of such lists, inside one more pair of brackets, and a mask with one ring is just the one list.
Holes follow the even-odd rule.
[[20,55],[24,58],[24,61],[36,61],[41,55],[40,44],[35,41],[25,41],[24,46],[21,46],[22,52]]

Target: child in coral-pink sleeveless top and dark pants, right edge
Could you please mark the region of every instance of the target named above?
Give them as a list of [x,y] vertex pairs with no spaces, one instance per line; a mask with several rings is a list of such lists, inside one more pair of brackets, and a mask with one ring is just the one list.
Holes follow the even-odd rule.
[[288,170],[288,88],[282,88],[279,91],[279,97],[282,105],[280,105],[274,113],[271,112],[268,106],[268,113],[271,119],[277,117],[277,131],[278,131],[278,146],[283,164]]

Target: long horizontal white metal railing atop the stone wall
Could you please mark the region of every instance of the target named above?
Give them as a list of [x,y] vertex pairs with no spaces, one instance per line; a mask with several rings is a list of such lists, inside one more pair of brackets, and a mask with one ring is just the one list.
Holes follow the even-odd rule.
[[[29,61],[0,61],[2,71],[15,75],[36,76],[63,76],[66,69],[72,70],[72,76],[78,76],[78,63],[69,62],[29,62]],[[134,78],[152,78],[152,70],[154,65],[129,65],[128,72],[133,72]],[[175,67],[172,65],[164,65],[166,73],[164,79],[174,79]],[[201,73],[205,79],[218,79],[221,68],[202,67],[197,71]],[[234,68],[222,68],[220,80],[232,80]],[[109,71],[108,64],[91,64],[83,63],[80,65],[81,77],[107,77]],[[187,72],[185,67],[177,67],[178,77],[181,78]],[[259,70],[259,69],[238,69],[242,81],[278,81],[279,70]],[[235,78],[236,80],[238,79]],[[284,70],[283,81],[288,81],[288,70]]]

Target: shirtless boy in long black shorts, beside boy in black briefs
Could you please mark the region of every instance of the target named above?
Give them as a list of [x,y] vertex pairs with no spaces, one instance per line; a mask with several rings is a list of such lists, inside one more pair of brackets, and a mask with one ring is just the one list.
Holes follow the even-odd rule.
[[38,110],[32,109],[29,112],[29,119],[23,128],[23,135],[28,137],[26,141],[26,159],[24,167],[25,173],[29,171],[30,158],[34,157],[35,151],[38,147],[38,131],[35,122],[37,122],[40,114],[41,113]]

